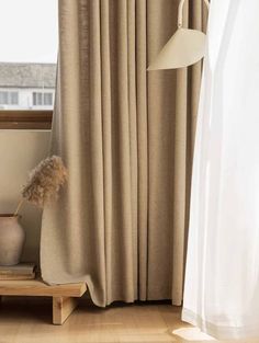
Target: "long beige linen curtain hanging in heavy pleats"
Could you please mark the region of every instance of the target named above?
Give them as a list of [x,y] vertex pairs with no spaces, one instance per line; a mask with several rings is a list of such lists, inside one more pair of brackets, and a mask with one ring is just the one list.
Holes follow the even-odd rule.
[[[49,284],[93,301],[182,300],[201,66],[146,72],[177,28],[177,0],[59,0],[52,153],[69,170],[43,216]],[[185,7],[185,23],[188,9]],[[202,25],[202,0],[190,2]]]

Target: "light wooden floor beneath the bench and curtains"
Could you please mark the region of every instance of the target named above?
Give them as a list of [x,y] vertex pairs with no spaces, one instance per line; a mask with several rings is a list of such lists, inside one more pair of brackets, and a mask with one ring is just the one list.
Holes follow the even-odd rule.
[[[0,343],[207,342],[192,338],[193,329],[181,322],[180,309],[167,304],[99,309],[82,298],[63,327],[52,325],[50,312],[49,299],[4,298],[0,308]],[[181,336],[188,333],[189,338],[172,332]]]

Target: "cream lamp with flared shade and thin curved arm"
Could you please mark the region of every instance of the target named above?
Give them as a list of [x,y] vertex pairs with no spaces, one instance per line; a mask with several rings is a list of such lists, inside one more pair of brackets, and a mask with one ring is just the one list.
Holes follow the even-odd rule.
[[[149,70],[177,69],[194,65],[204,57],[206,35],[199,30],[182,27],[182,12],[185,0],[181,0],[178,9],[178,30],[164,46]],[[209,0],[204,0],[210,8]]]

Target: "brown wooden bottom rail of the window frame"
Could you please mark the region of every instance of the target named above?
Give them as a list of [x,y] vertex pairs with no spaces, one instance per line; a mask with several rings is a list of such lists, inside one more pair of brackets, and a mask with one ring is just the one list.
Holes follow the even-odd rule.
[[0,129],[52,128],[53,110],[0,110]]

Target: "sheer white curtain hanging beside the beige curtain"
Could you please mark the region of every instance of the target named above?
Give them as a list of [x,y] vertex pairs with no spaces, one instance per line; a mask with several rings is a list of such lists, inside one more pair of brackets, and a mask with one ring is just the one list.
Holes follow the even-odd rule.
[[213,0],[182,318],[259,338],[259,1]]

